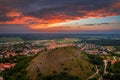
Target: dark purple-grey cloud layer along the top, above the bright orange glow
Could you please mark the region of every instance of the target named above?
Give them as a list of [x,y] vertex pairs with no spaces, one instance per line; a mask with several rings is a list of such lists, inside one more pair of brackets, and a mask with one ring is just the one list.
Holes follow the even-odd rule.
[[[120,7],[113,7],[120,0],[0,0],[0,21],[13,20],[6,16],[10,11],[17,10],[22,16],[32,16],[43,20],[60,16],[62,19],[76,19],[88,16],[120,15]],[[2,5],[2,6],[1,6]],[[7,7],[7,8],[6,8]],[[98,14],[97,11],[103,10]],[[74,18],[75,17],[75,18]]]

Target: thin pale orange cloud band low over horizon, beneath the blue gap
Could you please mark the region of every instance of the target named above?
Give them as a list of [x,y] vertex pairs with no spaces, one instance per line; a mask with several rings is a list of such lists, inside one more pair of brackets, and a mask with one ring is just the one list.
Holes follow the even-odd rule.
[[[38,26],[38,25],[36,25]],[[37,31],[42,31],[42,32],[62,32],[62,31],[67,31],[67,32],[74,32],[74,31],[107,31],[111,30],[108,26],[100,27],[100,26],[72,26],[72,27],[65,27],[65,26],[55,26],[55,27],[47,27],[47,28],[40,28],[38,27],[33,27],[32,29],[35,29]]]

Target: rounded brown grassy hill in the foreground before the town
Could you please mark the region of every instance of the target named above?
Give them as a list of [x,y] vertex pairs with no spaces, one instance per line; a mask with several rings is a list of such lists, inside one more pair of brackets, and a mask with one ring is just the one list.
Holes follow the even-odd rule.
[[86,80],[94,72],[95,66],[76,47],[47,50],[27,67],[31,80]]

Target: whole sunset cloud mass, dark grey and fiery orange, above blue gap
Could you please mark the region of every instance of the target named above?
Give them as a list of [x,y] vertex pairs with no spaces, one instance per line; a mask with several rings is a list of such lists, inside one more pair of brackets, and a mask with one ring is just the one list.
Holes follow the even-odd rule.
[[31,29],[117,15],[120,15],[120,0],[0,0],[0,24],[22,24]]

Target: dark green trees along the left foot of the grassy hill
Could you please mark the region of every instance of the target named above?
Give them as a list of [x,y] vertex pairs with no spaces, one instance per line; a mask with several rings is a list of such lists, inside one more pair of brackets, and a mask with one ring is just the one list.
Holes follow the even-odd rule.
[[[37,56],[37,55],[35,55]],[[19,57],[16,62],[16,66],[12,69],[5,70],[2,72],[2,76],[5,80],[29,80],[27,76],[26,68],[28,63],[35,57]]]

